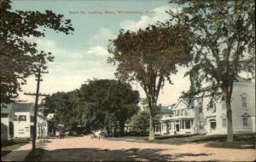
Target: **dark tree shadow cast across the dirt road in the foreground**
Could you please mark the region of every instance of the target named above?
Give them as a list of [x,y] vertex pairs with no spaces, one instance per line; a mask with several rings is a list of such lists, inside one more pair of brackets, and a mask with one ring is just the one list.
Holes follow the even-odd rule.
[[184,156],[207,156],[207,153],[161,154],[166,149],[69,148],[46,151],[41,161],[178,161]]

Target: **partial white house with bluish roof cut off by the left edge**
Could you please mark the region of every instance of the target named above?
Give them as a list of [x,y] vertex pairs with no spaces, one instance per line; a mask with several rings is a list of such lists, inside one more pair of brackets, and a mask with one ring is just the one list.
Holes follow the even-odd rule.
[[12,104],[1,108],[1,140],[10,140],[14,137],[14,111]]

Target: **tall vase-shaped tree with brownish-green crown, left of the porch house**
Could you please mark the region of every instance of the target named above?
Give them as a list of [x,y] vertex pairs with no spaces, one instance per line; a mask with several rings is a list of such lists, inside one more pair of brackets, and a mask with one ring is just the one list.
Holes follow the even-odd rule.
[[183,26],[150,26],[146,30],[130,32],[120,30],[118,38],[111,40],[108,61],[118,62],[116,77],[137,81],[147,96],[149,109],[149,140],[154,140],[154,115],[165,79],[172,83],[170,75],[178,65],[190,61],[189,37]]

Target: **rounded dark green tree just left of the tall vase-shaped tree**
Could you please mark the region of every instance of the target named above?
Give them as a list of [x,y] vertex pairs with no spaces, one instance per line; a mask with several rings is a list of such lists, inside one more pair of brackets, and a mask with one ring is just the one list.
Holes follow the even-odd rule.
[[137,113],[138,98],[130,84],[116,80],[89,80],[80,88],[81,109],[87,114],[84,117],[88,124],[95,129],[113,130],[113,134],[117,129],[124,132],[125,122]]

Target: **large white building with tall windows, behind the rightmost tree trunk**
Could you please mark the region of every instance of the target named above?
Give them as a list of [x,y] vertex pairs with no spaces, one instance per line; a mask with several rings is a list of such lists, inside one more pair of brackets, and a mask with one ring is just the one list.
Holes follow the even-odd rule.
[[[209,105],[209,98],[195,101],[196,132],[226,134],[227,116],[224,101]],[[202,112],[201,112],[202,107]],[[233,132],[255,132],[255,84],[238,78],[231,97]]]

